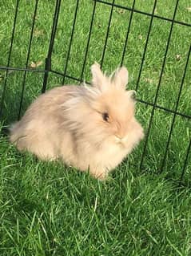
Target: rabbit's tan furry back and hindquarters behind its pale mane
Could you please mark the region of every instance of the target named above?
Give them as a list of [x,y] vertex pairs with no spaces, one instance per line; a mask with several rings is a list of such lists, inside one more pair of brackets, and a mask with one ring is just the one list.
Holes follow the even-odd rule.
[[58,158],[62,138],[68,146],[72,142],[70,132],[61,127],[64,122],[61,106],[75,89],[75,86],[56,87],[30,105],[22,120],[10,128],[10,141],[18,150],[27,150],[43,160]]

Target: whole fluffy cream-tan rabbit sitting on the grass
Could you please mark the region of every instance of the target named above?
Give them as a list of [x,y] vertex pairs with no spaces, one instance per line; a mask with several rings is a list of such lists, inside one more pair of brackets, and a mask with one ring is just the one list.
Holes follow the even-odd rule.
[[125,90],[127,69],[119,67],[108,77],[94,63],[91,73],[91,86],[54,87],[38,96],[10,128],[10,141],[39,159],[61,158],[105,180],[144,132],[134,116],[135,91]]

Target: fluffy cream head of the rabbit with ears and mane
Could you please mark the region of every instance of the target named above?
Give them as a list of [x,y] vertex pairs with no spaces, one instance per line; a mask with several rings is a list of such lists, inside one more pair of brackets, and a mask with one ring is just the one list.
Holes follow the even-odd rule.
[[[92,86],[79,88],[75,97],[64,106],[67,124],[81,140],[101,147],[104,144],[128,148],[143,137],[141,125],[135,120],[135,91],[125,91],[128,71],[125,67],[107,77],[98,63],[91,67]],[[66,113],[65,112],[65,113]]]

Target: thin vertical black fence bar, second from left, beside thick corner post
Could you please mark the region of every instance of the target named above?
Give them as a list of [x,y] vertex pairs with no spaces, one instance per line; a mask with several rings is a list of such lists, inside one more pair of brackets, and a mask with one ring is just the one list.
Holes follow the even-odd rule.
[[[30,49],[31,49],[32,40],[33,40],[34,24],[35,24],[35,18],[36,18],[36,15],[37,15],[37,8],[38,8],[38,0],[36,0],[36,4],[35,4],[35,7],[34,7],[34,17],[33,17],[33,23],[32,23],[32,28],[31,28],[31,32],[30,32],[30,43],[29,43],[28,53],[27,53],[27,57],[26,57],[25,69],[28,67],[29,59],[30,59]],[[22,101],[23,101],[24,91],[25,91],[25,87],[26,87],[26,72],[27,71],[24,71],[23,80],[22,80],[22,94],[21,94],[21,100],[20,100],[19,110],[18,110],[18,120],[21,117]]]

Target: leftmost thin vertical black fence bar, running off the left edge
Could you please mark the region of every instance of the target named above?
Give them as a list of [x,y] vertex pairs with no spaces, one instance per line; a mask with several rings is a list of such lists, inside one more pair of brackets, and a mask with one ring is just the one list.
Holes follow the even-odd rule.
[[12,30],[11,39],[10,39],[10,51],[9,51],[9,55],[8,55],[7,65],[6,65],[7,69],[6,69],[6,75],[5,75],[5,83],[4,83],[4,87],[3,87],[3,91],[2,91],[2,100],[1,100],[1,104],[0,104],[0,119],[2,117],[2,108],[3,108],[5,96],[6,96],[6,85],[7,85],[7,77],[8,77],[8,72],[9,72],[8,67],[10,67],[10,57],[12,54],[13,43],[14,43],[14,31],[15,31],[15,27],[16,27],[17,18],[18,18],[18,5],[19,5],[19,0],[17,0],[16,7],[15,7],[15,13],[14,13],[14,26],[13,26],[13,30]]

